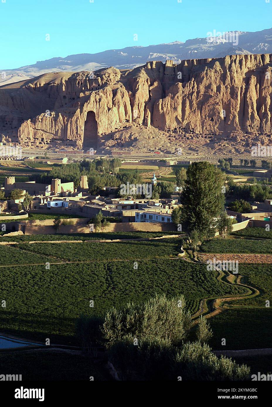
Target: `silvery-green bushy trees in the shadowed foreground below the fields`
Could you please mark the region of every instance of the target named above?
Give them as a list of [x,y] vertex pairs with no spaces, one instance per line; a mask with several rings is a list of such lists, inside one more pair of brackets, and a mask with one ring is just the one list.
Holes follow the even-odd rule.
[[[205,317],[197,329],[191,324],[183,295],[165,295],[121,310],[111,309],[105,318],[81,316],[77,334],[84,350],[97,356],[99,346],[122,380],[246,380],[250,369],[213,354],[207,345],[212,336]],[[195,337],[194,341],[189,341]]]

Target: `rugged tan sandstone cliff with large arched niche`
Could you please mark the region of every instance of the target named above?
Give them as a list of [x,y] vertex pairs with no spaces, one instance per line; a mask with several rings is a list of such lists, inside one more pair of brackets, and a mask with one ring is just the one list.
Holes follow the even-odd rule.
[[23,146],[77,149],[99,149],[102,136],[132,125],[151,137],[237,141],[271,133],[271,97],[271,54],[57,72],[0,87],[0,133]]

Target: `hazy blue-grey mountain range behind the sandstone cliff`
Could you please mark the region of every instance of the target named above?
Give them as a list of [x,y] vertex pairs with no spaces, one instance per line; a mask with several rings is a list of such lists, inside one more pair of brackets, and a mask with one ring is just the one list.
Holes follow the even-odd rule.
[[209,33],[206,38],[188,39],[186,42],[174,41],[169,44],[133,46],[119,50],[107,50],[96,54],[76,54],[38,61],[33,65],[18,69],[0,67],[1,85],[22,81],[47,72],[94,71],[114,66],[120,70],[134,69],[147,61],[172,59],[180,63],[185,59],[220,58],[236,54],[272,53],[272,28],[256,33],[230,31],[228,33]]

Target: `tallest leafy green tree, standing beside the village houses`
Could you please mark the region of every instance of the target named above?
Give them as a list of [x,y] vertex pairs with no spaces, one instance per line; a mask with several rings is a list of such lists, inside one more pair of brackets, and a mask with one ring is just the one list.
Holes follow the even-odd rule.
[[181,197],[182,219],[189,232],[196,229],[203,236],[214,234],[214,218],[224,209],[224,184],[222,171],[212,164],[194,162],[189,166]]

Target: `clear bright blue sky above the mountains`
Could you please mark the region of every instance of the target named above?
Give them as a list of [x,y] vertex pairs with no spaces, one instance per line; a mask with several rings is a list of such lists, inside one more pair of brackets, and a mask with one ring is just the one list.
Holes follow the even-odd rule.
[[272,0],[179,1],[0,0],[0,69],[71,54],[185,41],[213,30],[272,28]]

